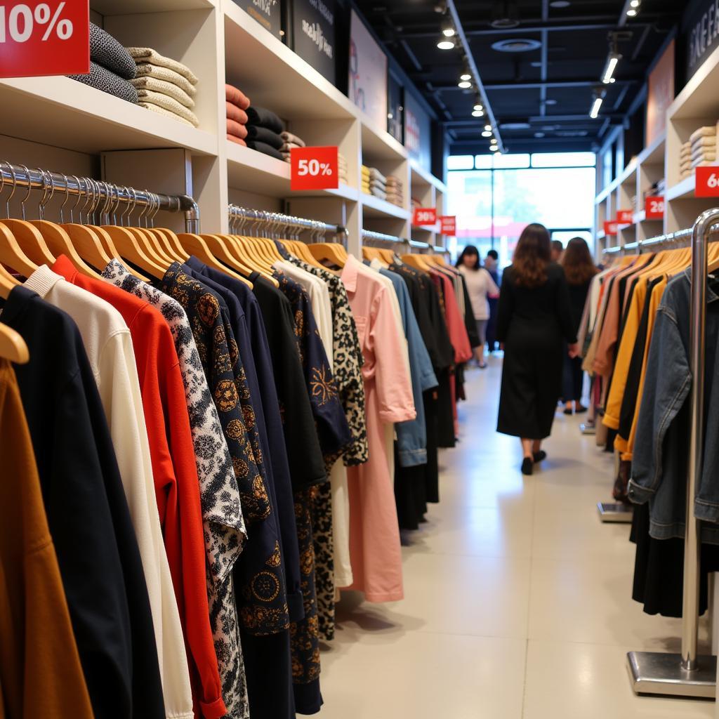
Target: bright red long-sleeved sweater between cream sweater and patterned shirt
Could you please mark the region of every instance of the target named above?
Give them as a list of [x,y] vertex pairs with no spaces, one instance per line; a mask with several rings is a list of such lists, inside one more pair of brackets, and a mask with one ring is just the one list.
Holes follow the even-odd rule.
[[207,604],[200,482],[173,336],[159,311],[124,290],[78,273],[64,255],[52,271],[109,302],[132,335],[165,551],[182,623],[193,701],[206,719],[226,714]]

